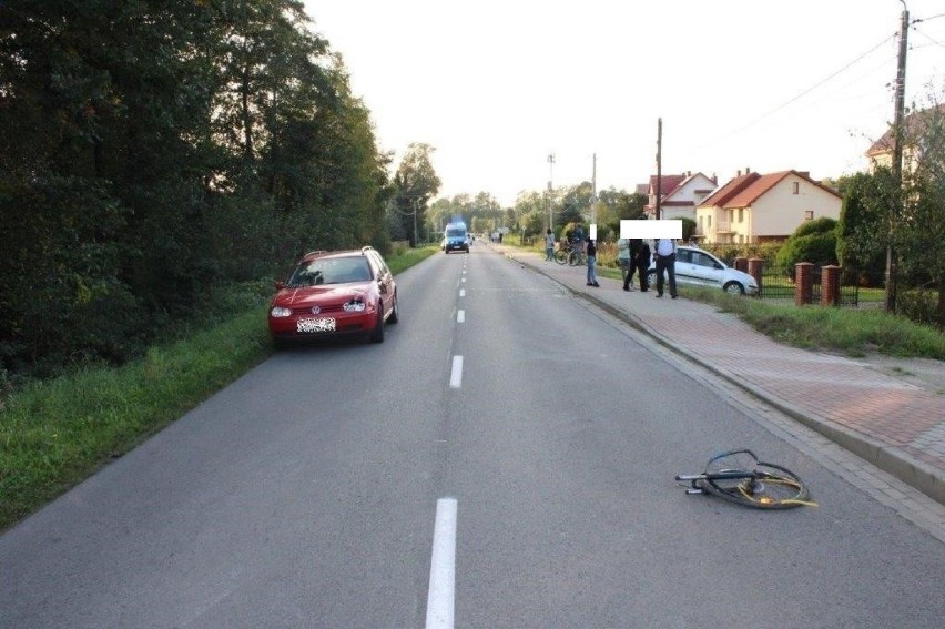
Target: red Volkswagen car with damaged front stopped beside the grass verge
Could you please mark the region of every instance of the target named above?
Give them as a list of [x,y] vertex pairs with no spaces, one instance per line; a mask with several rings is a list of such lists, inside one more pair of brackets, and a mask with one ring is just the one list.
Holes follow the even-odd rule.
[[315,251],[305,256],[270,305],[276,346],[341,335],[384,342],[385,323],[396,323],[397,285],[377,251]]

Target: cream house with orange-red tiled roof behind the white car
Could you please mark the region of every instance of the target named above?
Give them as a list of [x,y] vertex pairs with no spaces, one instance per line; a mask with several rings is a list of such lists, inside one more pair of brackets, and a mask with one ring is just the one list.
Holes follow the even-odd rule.
[[781,242],[804,221],[840,219],[842,203],[835,190],[807,172],[739,172],[695,209],[695,237],[705,243]]

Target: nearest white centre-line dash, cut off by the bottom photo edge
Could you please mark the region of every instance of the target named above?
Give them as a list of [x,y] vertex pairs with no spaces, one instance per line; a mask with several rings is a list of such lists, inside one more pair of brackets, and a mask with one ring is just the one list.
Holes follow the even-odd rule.
[[426,629],[453,629],[456,592],[456,498],[436,501]]

